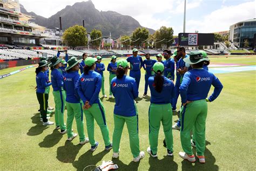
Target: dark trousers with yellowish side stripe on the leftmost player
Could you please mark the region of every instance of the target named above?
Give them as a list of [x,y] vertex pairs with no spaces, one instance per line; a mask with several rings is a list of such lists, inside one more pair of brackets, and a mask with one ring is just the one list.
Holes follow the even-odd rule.
[[48,122],[48,119],[46,117],[47,117],[49,94],[36,92],[36,96],[40,104],[40,115],[43,119],[43,122]]

